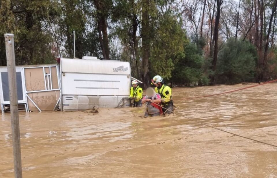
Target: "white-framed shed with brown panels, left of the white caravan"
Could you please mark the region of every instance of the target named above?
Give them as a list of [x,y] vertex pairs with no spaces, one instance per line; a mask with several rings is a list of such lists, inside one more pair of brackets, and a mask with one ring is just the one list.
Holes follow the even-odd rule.
[[[60,104],[59,66],[57,64],[16,66],[19,109],[53,111]],[[7,66],[0,67],[1,112],[10,110]]]

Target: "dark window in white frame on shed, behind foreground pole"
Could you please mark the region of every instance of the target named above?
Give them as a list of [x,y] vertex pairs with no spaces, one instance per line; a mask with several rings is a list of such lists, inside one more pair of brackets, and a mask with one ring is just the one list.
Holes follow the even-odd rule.
[[[10,101],[8,72],[1,72],[1,80],[2,80],[3,100],[4,100],[4,102],[5,101]],[[18,101],[24,100],[23,99],[21,72],[16,72],[16,83],[17,83],[17,98],[18,98]]]

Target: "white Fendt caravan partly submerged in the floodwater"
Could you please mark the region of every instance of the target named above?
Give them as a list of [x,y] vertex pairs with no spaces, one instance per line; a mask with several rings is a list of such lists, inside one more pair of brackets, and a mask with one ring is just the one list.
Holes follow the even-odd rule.
[[[83,59],[60,59],[62,110],[78,111],[98,107],[117,107],[130,95],[129,62]],[[126,103],[125,106],[130,105]]]

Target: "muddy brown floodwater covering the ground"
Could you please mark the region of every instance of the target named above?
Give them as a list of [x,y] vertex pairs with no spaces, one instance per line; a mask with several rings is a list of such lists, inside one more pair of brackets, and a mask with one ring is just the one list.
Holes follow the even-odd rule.
[[[188,118],[277,144],[277,83],[174,88]],[[277,177],[277,148],[140,109],[20,113],[23,177]],[[0,177],[13,177],[10,115],[0,120]]]

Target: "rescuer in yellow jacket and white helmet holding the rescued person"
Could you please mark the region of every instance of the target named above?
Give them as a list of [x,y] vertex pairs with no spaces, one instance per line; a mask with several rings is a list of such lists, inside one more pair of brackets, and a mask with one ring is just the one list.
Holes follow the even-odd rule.
[[164,84],[163,78],[159,75],[154,76],[151,82],[156,86],[155,92],[161,95],[161,105],[164,115],[170,115],[174,110],[171,99],[171,88]]

